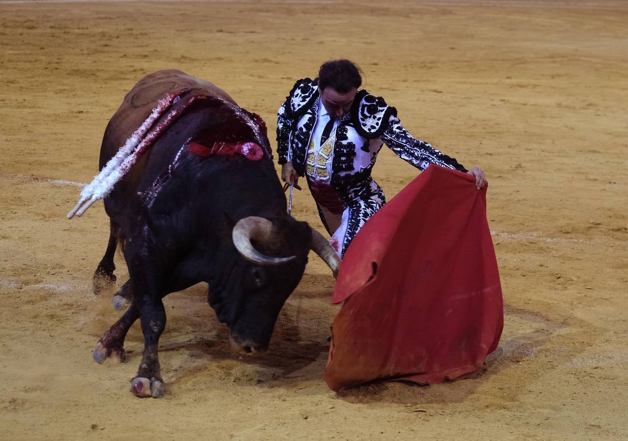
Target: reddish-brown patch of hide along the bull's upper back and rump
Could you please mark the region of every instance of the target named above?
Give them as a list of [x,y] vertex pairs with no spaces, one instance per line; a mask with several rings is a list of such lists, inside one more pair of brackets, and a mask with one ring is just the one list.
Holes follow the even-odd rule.
[[150,73],[127,93],[119,109],[109,120],[100,147],[99,168],[105,166],[127,139],[141,127],[158,107],[161,99],[189,91],[193,95],[217,97],[233,105],[236,102],[214,84],[191,77],[180,70],[160,70]]

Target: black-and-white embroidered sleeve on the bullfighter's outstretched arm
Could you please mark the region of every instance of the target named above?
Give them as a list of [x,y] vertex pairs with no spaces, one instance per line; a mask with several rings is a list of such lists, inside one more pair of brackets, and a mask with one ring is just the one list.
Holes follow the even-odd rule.
[[441,167],[467,172],[467,169],[458,163],[455,158],[436,150],[427,142],[414,139],[408,130],[401,125],[399,118],[394,115],[391,115],[381,138],[397,156],[420,170],[425,170],[430,164],[436,164]]

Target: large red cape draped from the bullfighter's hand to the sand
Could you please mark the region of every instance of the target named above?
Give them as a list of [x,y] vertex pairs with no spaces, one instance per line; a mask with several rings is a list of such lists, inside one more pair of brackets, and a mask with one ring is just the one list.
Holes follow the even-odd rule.
[[502,290],[486,187],[430,166],[379,210],[345,253],[325,381],[441,383],[497,348]]

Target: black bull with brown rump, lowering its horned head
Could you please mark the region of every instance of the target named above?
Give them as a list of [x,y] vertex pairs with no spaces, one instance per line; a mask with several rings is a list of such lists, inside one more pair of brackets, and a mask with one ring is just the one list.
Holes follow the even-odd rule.
[[[111,236],[94,275],[96,291],[116,280],[113,256],[120,242],[129,280],[114,299],[131,304],[93,356],[99,363],[112,355],[124,359],[124,337],[139,318],[144,352],[131,380],[138,396],[163,395],[157,348],[166,324],[162,298],[170,292],[207,282],[208,302],[229,326],[232,343],[244,353],[261,352],[310,248],[334,272],[338,265],[325,238],[286,213],[261,119],[211,83],[175,70],[140,80],[107,125],[100,169],[161,99],[175,95],[152,124],[149,147],[104,199]],[[253,142],[263,157],[189,151],[191,143],[215,142]]]

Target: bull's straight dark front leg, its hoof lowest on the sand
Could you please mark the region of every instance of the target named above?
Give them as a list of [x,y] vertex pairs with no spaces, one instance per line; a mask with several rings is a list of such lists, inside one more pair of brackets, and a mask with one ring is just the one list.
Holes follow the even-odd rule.
[[[138,295],[134,297],[136,303]],[[144,295],[141,299],[140,321],[144,334],[144,353],[138,375],[131,380],[131,391],[140,397],[163,396],[163,380],[157,353],[159,337],[166,326],[166,311],[160,295]]]

